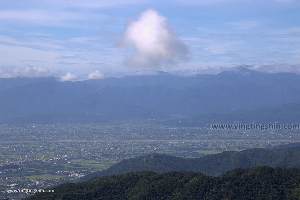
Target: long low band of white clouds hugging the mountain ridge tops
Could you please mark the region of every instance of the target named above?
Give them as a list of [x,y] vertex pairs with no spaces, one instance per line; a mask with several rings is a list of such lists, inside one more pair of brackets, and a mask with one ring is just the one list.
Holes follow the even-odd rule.
[[[260,63],[253,65],[238,65],[238,66],[216,66],[207,68],[194,68],[194,69],[180,69],[175,71],[168,71],[169,74],[178,76],[195,76],[197,74],[217,74],[223,71],[236,71],[240,72],[240,68],[244,67],[249,70],[259,71],[263,73],[280,73],[290,72],[300,74],[300,64],[290,65],[287,63],[277,64],[275,62]],[[76,75],[73,72],[61,72],[44,67],[19,67],[19,66],[6,66],[0,67],[0,78],[14,78],[14,77],[49,77],[55,76],[59,81],[80,81],[85,79],[99,79],[108,77],[122,77],[129,75],[164,75],[167,72],[155,70],[141,70],[141,71],[127,71],[127,72],[100,72],[95,70],[89,74]]]

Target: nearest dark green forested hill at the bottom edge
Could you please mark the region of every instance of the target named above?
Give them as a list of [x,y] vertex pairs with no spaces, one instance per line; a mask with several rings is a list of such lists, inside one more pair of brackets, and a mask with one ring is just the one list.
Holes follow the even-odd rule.
[[40,199],[299,199],[300,169],[259,166],[219,177],[199,172],[131,172],[54,187]]

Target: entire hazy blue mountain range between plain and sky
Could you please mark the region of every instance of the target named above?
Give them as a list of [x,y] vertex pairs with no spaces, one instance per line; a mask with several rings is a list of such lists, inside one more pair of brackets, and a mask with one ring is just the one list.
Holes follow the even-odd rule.
[[0,123],[164,119],[170,125],[202,126],[300,119],[297,74],[268,74],[244,67],[193,77],[157,74],[76,82],[59,82],[55,77],[2,78]]

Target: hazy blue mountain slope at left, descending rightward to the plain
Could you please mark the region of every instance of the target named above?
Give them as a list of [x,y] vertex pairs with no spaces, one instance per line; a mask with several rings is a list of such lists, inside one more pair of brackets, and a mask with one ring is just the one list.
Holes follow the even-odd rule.
[[118,88],[107,91],[79,81],[25,84],[0,93],[2,123],[91,123],[158,117],[166,116],[124,101]]

